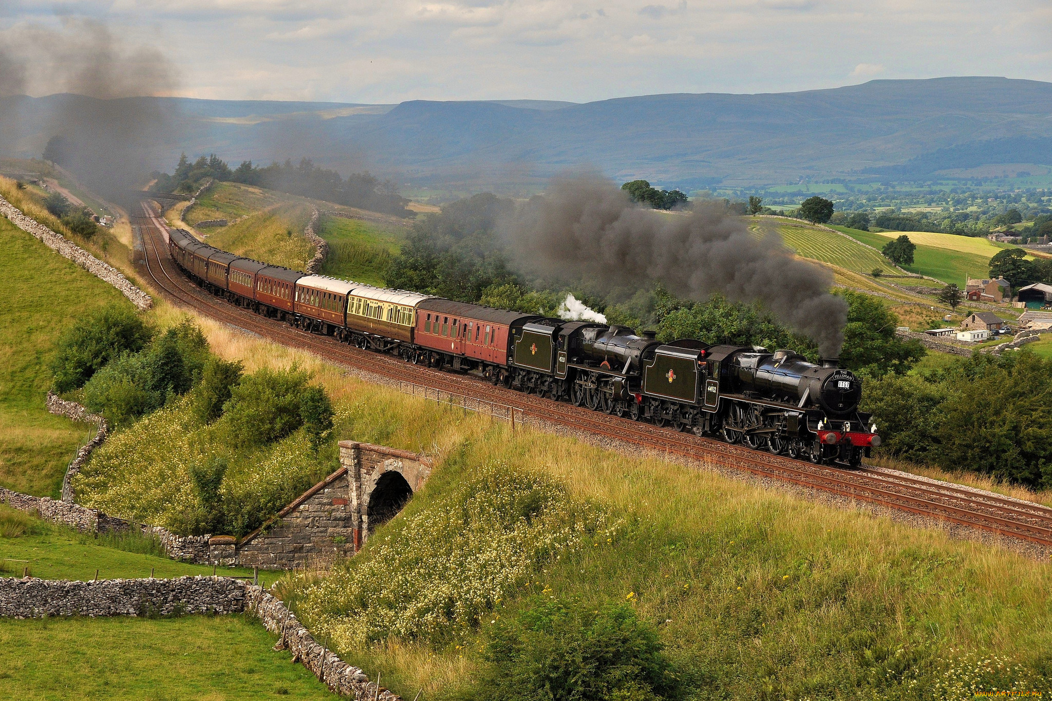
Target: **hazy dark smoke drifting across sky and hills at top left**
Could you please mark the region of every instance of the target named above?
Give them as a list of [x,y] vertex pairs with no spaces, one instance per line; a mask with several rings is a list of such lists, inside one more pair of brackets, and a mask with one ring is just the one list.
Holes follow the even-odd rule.
[[47,99],[39,125],[22,126],[36,130],[46,160],[92,190],[121,199],[162,162],[160,144],[170,142],[173,120],[153,96],[170,94],[177,79],[157,48],[119,38],[96,20],[63,18],[58,29],[21,28],[0,56],[0,73],[8,66],[20,77],[11,87],[0,84],[8,95],[58,94]]

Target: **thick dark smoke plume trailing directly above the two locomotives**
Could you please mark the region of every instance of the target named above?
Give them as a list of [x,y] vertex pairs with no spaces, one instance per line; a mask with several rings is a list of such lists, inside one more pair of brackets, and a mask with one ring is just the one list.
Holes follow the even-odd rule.
[[775,235],[756,240],[721,205],[687,214],[635,207],[598,176],[555,178],[503,227],[521,265],[542,274],[587,276],[611,285],[660,281],[679,296],[760,302],[789,328],[835,357],[847,303],[829,292],[832,273],[794,259]]

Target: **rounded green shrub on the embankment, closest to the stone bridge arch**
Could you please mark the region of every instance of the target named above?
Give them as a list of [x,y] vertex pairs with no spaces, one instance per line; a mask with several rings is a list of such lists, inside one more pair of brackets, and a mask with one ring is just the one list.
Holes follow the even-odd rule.
[[230,390],[223,407],[222,424],[241,448],[280,440],[310,419],[310,430],[332,426],[332,405],[320,387],[308,385],[310,374],[263,368],[244,377]]

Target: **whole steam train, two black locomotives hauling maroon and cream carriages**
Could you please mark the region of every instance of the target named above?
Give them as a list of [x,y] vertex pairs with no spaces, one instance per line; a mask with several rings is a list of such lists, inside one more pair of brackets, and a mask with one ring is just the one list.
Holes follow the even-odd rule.
[[173,259],[228,302],[361,349],[814,463],[881,445],[862,382],[791,350],[662,343],[623,326],[492,309],[307,275],[169,231]]

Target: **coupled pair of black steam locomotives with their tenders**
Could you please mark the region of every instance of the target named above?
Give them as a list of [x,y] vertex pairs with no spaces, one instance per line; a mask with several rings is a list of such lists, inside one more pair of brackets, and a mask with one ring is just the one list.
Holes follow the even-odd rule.
[[[857,466],[881,445],[862,382],[790,350],[662,344],[626,327],[538,319],[514,331],[512,387],[814,463]],[[551,353],[521,349],[550,347]],[[549,360],[549,357],[551,358]]]

